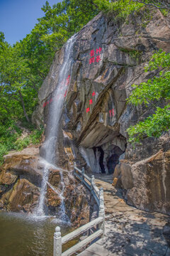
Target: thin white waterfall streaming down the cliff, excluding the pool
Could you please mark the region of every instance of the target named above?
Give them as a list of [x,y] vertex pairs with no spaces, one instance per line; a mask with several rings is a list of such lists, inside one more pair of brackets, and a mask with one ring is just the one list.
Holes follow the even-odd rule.
[[[45,143],[42,148],[44,150],[42,164],[44,165],[43,169],[43,177],[42,177],[42,186],[40,191],[40,199],[38,208],[36,209],[35,214],[38,216],[45,215],[44,210],[44,202],[45,202],[45,194],[47,191],[47,182],[48,182],[48,173],[50,166],[56,164],[55,163],[55,154],[56,154],[56,145],[58,139],[58,130],[60,126],[60,119],[62,116],[62,107],[64,103],[64,97],[66,96],[67,89],[69,86],[69,80],[71,78],[72,71],[72,49],[74,46],[76,35],[72,36],[72,38],[67,41],[64,50],[64,61],[59,73],[59,80],[57,82],[57,87],[55,89],[52,104],[50,104],[49,117],[47,122],[47,137],[45,139]],[[55,166],[56,168],[56,166]],[[62,192],[60,194],[60,198],[62,199],[60,205],[60,219],[64,222],[68,221],[68,217],[65,214],[65,206],[64,206],[64,178],[62,175],[62,171],[60,171]]]

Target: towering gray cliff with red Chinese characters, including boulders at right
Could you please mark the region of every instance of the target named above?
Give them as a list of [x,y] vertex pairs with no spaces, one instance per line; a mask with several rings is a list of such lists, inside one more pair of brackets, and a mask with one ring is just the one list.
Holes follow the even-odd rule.
[[[170,51],[170,28],[168,18],[155,9],[152,18],[141,10],[125,23],[98,14],[77,33],[69,90],[62,112],[57,162],[70,170],[75,159],[78,166],[86,164],[88,171],[103,174],[113,174],[115,166],[120,164],[119,183],[127,191],[129,203],[170,213],[167,203],[170,188],[164,182],[168,173],[162,174],[164,164],[168,166],[169,162],[160,161],[157,182],[164,185],[159,198],[156,193],[151,196],[157,182],[152,181],[148,171],[149,168],[154,174],[156,167],[147,166],[147,160],[143,167],[135,166],[161,149],[168,151],[169,135],[145,139],[142,146],[133,149],[126,132],[130,125],[154,112],[151,107],[127,105],[126,99],[132,92],[132,84],[140,84],[155,75],[154,72],[145,73],[144,67],[153,51],[159,48]],[[39,105],[33,113],[33,122],[38,126],[47,125],[50,103],[45,107],[43,104],[50,102],[63,59],[64,47],[56,53],[38,94]],[[164,102],[159,105],[164,106]]]

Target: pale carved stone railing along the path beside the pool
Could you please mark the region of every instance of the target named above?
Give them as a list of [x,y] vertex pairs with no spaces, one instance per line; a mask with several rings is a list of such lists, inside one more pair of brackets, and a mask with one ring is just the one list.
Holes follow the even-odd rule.
[[[89,190],[91,191],[91,195],[94,196],[96,203],[98,204],[98,218],[92,220],[86,225],[81,226],[81,228],[77,228],[77,230],[74,230],[72,233],[64,235],[64,237],[61,236],[60,227],[55,228],[53,256],[73,255],[75,252],[81,250],[86,245],[89,245],[94,239],[104,235],[105,213],[103,188],[100,188],[100,190],[97,188],[94,176],[91,176],[91,178],[89,178],[89,176],[84,174],[84,168],[82,168],[81,171],[74,165],[74,176],[79,178],[79,181],[81,181],[81,183],[83,183],[86,188],[89,188]],[[89,235],[87,238],[85,238],[81,242],[78,242],[76,245],[69,248],[69,250],[62,253],[62,245],[64,245],[66,242],[69,242],[70,240],[73,240],[74,238],[77,238],[77,236],[87,232],[95,226],[98,226],[98,230],[96,232],[92,233],[92,235]]]

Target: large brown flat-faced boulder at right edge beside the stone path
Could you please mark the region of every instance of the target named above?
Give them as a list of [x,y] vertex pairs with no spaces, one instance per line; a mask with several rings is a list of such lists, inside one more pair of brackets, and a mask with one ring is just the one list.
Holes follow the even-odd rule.
[[128,203],[144,210],[170,214],[170,150],[159,151],[131,165],[133,186],[127,189]]

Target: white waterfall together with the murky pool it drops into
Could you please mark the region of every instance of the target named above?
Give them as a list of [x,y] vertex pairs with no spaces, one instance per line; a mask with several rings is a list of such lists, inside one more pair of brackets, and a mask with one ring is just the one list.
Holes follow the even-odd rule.
[[[3,256],[52,256],[52,243],[55,227],[60,223],[62,235],[71,231],[69,218],[64,206],[64,177],[62,170],[57,166],[55,156],[57,154],[58,130],[62,116],[64,99],[67,94],[72,75],[72,48],[75,36],[67,41],[64,48],[64,61],[60,68],[59,79],[53,93],[52,103],[49,105],[49,117],[47,121],[47,136],[42,145],[44,150],[42,165],[43,176],[40,189],[38,207],[33,214],[3,213],[0,211],[0,255]],[[49,169],[60,170],[60,188],[54,188],[48,181]],[[61,198],[61,204],[55,216],[45,214],[45,196],[47,184]],[[65,225],[67,224],[67,225]],[[77,240],[69,242],[67,247]],[[66,247],[65,247],[66,249]]]

